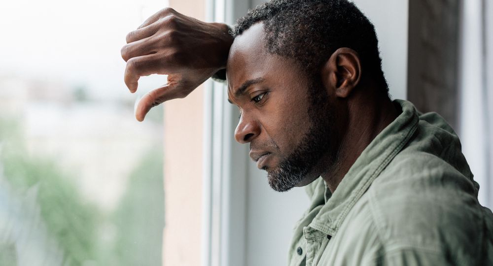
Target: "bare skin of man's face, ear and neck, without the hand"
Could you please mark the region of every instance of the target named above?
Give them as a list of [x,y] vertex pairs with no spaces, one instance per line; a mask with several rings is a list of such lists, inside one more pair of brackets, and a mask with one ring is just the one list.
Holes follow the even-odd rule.
[[[259,168],[269,170],[279,166],[308,128],[310,88],[293,60],[267,52],[264,35],[263,24],[257,23],[236,37],[228,58],[227,80],[229,100],[242,112],[235,138],[258,148],[250,150],[253,160],[269,153],[257,161]],[[366,146],[397,117],[388,97],[379,97],[379,88],[362,80],[361,74],[359,57],[349,48],[335,51],[322,67],[324,89],[338,114],[338,130],[331,134],[331,142],[339,147],[337,161],[329,163],[327,151],[299,185],[322,176],[334,192]],[[239,94],[242,84],[251,80],[257,82]],[[268,143],[276,143],[277,148]]]

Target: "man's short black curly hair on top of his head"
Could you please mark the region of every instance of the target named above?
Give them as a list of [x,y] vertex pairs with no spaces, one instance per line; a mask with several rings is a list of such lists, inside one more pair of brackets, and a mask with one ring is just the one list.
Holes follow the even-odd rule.
[[356,51],[363,76],[370,75],[388,94],[377,34],[370,20],[348,0],[271,0],[238,20],[238,36],[263,22],[269,53],[295,59],[314,75],[338,48]]

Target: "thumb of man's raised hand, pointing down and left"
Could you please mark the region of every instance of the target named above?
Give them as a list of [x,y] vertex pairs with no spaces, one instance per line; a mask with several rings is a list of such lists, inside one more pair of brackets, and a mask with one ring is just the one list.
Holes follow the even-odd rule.
[[186,90],[178,89],[170,84],[152,90],[144,95],[139,101],[135,112],[135,118],[137,118],[138,121],[142,122],[145,118],[145,115],[152,107],[157,106],[167,100],[183,98],[189,93],[190,92]]

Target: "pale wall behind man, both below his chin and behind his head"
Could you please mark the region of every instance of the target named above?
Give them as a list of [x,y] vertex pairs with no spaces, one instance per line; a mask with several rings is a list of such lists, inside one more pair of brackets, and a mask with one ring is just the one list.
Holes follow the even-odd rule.
[[[252,6],[262,1],[253,0]],[[406,98],[407,0],[355,0],[374,23],[380,41],[383,68],[394,99]],[[303,188],[287,193],[270,189],[265,172],[249,162],[246,192],[246,265],[287,264],[294,223],[308,207]]]

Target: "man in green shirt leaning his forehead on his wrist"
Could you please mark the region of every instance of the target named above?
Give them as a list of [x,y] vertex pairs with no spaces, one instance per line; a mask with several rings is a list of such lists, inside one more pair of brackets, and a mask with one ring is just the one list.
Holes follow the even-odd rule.
[[226,32],[163,10],[127,36],[125,82],[134,92],[139,76],[170,74],[141,100],[142,120],[226,67],[236,140],[273,189],[306,186],[312,200],[289,265],[493,264],[493,215],[457,135],[389,99],[374,27],[354,4],[273,0]]

